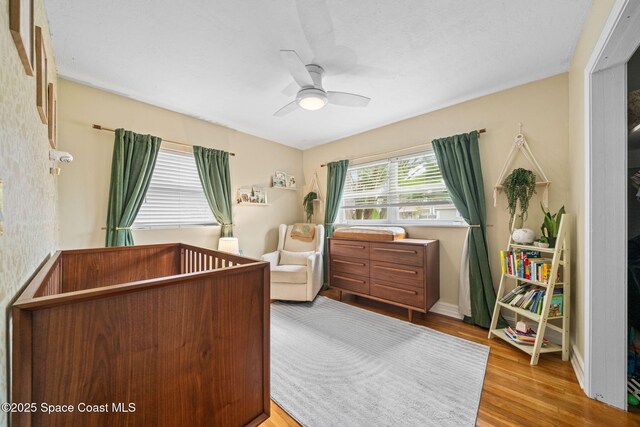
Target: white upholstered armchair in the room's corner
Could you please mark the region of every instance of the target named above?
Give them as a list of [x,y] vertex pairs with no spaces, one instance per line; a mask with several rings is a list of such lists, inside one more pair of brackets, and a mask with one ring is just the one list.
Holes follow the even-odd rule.
[[[262,256],[264,261],[271,263],[271,299],[313,301],[322,288],[324,227],[315,225],[315,235],[310,242],[292,238],[292,228],[292,225],[280,224],[278,250]],[[307,253],[303,255],[306,263],[304,258],[292,254],[296,252]],[[281,264],[281,259],[295,264]]]

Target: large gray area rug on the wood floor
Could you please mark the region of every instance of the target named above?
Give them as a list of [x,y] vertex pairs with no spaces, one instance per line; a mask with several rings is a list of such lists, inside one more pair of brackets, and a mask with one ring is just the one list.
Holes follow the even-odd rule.
[[271,304],[271,398],[307,427],[473,426],[488,357],[321,296]]

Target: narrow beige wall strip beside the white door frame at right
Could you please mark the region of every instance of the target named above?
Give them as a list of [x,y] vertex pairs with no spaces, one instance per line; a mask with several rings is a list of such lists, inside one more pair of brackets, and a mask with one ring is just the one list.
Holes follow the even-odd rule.
[[571,320],[571,340],[580,359],[584,355],[584,69],[611,12],[614,0],[594,0],[580,35],[569,69],[569,170],[570,207],[576,213],[573,230],[574,298]]

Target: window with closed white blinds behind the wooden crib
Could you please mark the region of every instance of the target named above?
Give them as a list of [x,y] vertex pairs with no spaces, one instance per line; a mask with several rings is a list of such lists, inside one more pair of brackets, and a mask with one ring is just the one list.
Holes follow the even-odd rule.
[[160,149],[133,228],[214,224],[193,154]]

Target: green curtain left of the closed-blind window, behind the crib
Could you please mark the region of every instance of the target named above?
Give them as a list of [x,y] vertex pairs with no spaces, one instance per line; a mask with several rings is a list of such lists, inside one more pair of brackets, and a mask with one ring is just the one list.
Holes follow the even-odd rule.
[[105,244],[133,246],[130,227],[147,194],[162,140],[124,129],[116,129],[115,133]]

